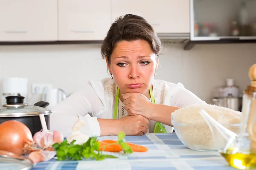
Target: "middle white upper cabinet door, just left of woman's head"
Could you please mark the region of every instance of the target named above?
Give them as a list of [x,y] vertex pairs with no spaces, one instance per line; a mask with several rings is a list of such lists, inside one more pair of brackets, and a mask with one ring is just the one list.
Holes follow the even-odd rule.
[[111,0],[58,0],[59,40],[103,40],[111,26]]

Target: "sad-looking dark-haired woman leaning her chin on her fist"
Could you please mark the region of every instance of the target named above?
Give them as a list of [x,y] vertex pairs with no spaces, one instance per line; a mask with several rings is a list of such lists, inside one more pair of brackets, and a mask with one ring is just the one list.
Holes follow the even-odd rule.
[[86,87],[55,105],[51,130],[70,136],[78,115],[81,133],[89,136],[127,136],[172,132],[171,113],[202,103],[181,83],[154,79],[162,44],[147,21],[126,14],[110,27],[102,42],[110,78],[90,81]]

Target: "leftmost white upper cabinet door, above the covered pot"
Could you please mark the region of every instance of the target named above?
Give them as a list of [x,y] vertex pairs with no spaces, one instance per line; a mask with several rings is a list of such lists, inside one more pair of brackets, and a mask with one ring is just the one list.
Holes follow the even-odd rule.
[[57,0],[0,0],[0,41],[58,38]]

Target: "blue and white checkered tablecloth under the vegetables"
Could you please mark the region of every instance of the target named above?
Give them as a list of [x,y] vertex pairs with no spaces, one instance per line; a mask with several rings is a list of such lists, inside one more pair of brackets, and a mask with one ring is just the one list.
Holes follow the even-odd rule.
[[[102,136],[99,140],[117,136]],[[175,133],[148,133],[143,136],[125,136],[127,142],[144,145],[145,153],[127,156],[111,153],[118,159],[103,161],[50,161],[39,162],[32,170],[234,170],[217,151],[190,150]],[[108,153],[109,154],[109,153]]]

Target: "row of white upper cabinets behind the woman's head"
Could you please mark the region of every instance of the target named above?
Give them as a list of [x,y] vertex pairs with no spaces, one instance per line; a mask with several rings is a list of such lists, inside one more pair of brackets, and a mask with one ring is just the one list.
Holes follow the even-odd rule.
[[159,36],[190,32],[189,0],[0,0],[0,42],[103,40],[129,13]]

